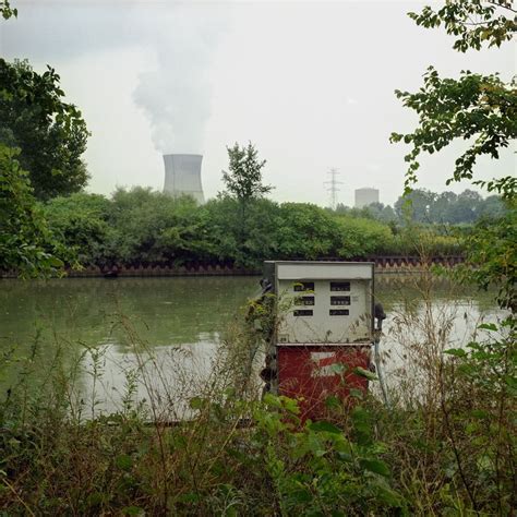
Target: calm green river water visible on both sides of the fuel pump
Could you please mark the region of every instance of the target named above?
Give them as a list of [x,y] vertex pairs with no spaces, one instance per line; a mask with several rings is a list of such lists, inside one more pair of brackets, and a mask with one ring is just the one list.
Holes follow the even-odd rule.
[[[1,280],[0,387],[15,389],[24,376],[45,383],[59,360],[85,414],[121,410],[130,394],[132,404],[154,395],[169,406],[173,396],[181,417],[179,400],[209,377],[220,340],[258,293],[257,277]],[[438,333],[447,348],[465,346],[500,314],[490,293],[414,274],[380,274],[375,293],[388,314],[381,342],[388,381],[410,368],[408,347],[429,340],[430,318],[447,329]],[[135,374],[142,366],[146,378]],[[164,394],[157,384],[172,388]]]

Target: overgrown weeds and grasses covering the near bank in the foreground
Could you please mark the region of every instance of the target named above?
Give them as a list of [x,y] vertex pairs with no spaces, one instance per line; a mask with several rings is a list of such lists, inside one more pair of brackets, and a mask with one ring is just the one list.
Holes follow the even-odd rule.
[[[515,358],[502,353],[515,335],[443,353],[425,342],[433,336],[448,342],[442,322],[434,324],[413,350],[426,357],[420,366],[411,364],[412,371],[422,368],[421,396],[400,386],[390,392],[390,407],[360,392],[352,393],[351,407],[329,397],[327,420],[318,422],[300,421],[293,399],[250,396],[250,378],[241,373],[256,334],[242,322],[231,334],[230,363],[190,398],[191,420],[173,425],[157,405],[181,386],[161,385],[165,371],[147,390],[146,405],[132,401],[135,383],[147,382],[152,357],[139,372],[128,372],[120,410],[89,419],[81,375],[99,375],[100,349],[84,350],[76,362],[68,345],[48,358],[36,339],[17,359],[21,374],[0,400],[0,509],[509,515],[516,504]],[[84,371],[87,354],[93,366]],[[0,377],[12,361],[4,354]]]

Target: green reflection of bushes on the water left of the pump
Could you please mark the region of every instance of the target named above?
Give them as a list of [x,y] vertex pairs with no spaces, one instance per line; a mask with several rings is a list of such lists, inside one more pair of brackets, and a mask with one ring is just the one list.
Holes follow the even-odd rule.
[[123,317],[153,346],[197,342],[257,292],[254,277],[2,280],[0,342],[23,344],[41,327],[46,337],[123,348]]

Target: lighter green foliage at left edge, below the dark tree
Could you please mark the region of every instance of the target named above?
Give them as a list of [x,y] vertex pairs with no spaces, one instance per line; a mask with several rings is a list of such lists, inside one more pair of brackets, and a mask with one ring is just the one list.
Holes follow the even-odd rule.
[[19,154],[0,144],[0,270],[14,269],[22,277],[49,275],[61,270],[62,258],[71,255],[47,227]]

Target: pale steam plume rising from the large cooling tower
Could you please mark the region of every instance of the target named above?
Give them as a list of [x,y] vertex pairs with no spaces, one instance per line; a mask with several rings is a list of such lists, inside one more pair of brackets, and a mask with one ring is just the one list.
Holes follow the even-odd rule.
[[195,9],[175,5],[164,12],[154,36],[156,69],[140,75],[134,92],[152,124],[153,142],[163,154],[201,153],[211,115],[209,63],[217,24]]

